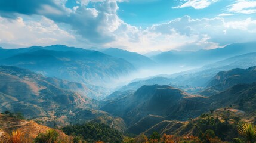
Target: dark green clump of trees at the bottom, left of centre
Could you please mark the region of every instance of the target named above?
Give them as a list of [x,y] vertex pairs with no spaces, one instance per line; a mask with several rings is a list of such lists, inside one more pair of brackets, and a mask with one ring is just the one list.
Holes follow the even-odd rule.
[[85,123],[83,125],[66,126],[63,132],[71,136],[81,136],[87,142],[113,142],[123,141],[122,133],[100,123]]

